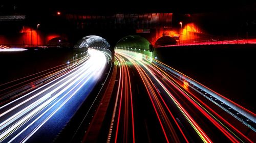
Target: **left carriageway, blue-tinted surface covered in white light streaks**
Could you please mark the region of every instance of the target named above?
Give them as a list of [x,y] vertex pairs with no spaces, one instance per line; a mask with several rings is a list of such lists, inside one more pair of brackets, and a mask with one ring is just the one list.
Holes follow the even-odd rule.
[[54,140],[87,99],[108,63],[104,53],[94,49],[88,53],[90,58],[65,74],[0,107],[0,142]]

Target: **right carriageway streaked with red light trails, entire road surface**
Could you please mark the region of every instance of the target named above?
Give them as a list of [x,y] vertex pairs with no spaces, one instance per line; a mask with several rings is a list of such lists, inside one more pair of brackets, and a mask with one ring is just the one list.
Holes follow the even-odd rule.
[[115,52],[118,90],[108,142],[256,141],[254,122],[240,122],[229,106],[217,104],[211,92],[184,80],[185,75],[182,78],[141,53]]

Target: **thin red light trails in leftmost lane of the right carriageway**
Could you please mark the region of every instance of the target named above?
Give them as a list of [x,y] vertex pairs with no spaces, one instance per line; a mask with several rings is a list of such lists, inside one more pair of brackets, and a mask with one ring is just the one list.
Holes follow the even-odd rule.
[[[116,132],[115,132],[115,141],[118,141],[118,138],[122,138],[122,142],[135,142],[135,127],[134,127],[134,109],[133,109],[133,98],[132,98],[132,89],[131,89],[131,79],[129,74],[129,69],[126,65],[126,62],[116,56],[117,62],[120,66],[120,77],[119,77],[119,85],[118,85],[118,92],[117,92],[117,99],[114,107],[114,112],[116,112],[118,99],[119,99],[119,107],[118,107],[118,117],[117,117],[117,125],[116,125]],[[120,98],[119,98],[120,97]],[[123,105],[124,104],[124,105]],[[131,115],[131,116],[130,116]],[[123,118],[121,118],[121,116]],[[123,119],[123,120],[122,120]],[[112,122],[114,122],[115,117],[112,117]],[[120,122],[123,122],[123,126],[120,125]],[[132,121],[132,124],[129,121]],[[132,129],[130,129],[130,125]],[[111,124],[113,127],[113,123]],[[119,130],[122,129],[123,136],[120,135]],[[112,128],[110,130],[112,131]],[[110,137],[109,132],[109,138]],[[132,140],[129,140],[130,133],[132,134]],[[109,139],[110,141],[110,139]]]

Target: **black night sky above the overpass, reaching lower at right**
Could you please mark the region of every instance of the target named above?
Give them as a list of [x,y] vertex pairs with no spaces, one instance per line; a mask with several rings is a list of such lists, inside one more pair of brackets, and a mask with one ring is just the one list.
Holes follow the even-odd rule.
[[[60,11],[65,14],[97,14],[108,15],[114,13],[174,13],[174,14],[206,14],[199,18],[200,27],[210,34],[236,34],[256,30],[256,2],[255,1],[37,1],[13,4],[1,4],[0,15],[26,14],[28,19],[38,22],[56,15]],[[174,23],[175,17],[174,17]],[[179,19],[178,19],[179,20]],[[194,19],[195,20],[195,19]],[[175,24],[174,24],[175,26]],[[179,25],[177,25],[179,26]]]

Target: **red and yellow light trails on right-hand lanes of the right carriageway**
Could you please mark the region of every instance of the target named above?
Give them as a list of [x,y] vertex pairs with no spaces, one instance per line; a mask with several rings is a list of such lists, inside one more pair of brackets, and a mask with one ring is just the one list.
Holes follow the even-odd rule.
[[[227,120],[225,119],[225,117],[222,117],[221,115],[219,115],[212,107],[208,106],[206,103],[204,103],[200,98],[198,98],[198,96],[196,96],[194,93],[191,93],[190,88],[188,88],[189,84],[186,84],[187,86],[184,87],[184,82],[180,82],[179,80],[173,78],[169,73],[167,73],[166,71],[164,71],[163,69],[161,69],[159,66],[152,64],[150,62],[148,62],[145,56],[143,56],[141,53],[135,53],[135,52],[130,52],[130,51],[126,51],[126,50],[116,50],[116,55],[120,55],[122,57],[125,57],[126,59],[129,59],[129,61],[131,61],[133,63],[133,65],[136,67],[138,73],[140,74],[145,87],[147,88],[147,92],[148,95],[154,95],[153,92],[155,91],[156,94],[159,94],[159,97],[161,99],[161,102],[158,101],[154,101],[152,102],[153,106],[157,105],[156,103],[159,103],[159,105],[157,105],[158,107],[155,108],[156,113],[160,113],[158,115],[164,115],[164,110],[160,109],[161,105],[163,104],[166,109],[167,112],[169,113],[170,117],[172,117],[173,119],[175,118],[174,115],[172,114],[171,110],[169,110],[168,108],[168,103],[166,103],[162,98],[162,96],[165,96],[162,93],[162,90],[165,91],[165,93],[170,97],[170,99],[172,99],[174,101],[174,103],[176,104],[176,106],[179,108],[179,110],[182,112],[183,116],[187,119],[187,121],[190,123],[191,126],[193,126],[193,128],[195,129],[195,131],[198,133],[198,135],[201,137],[201,139],[204,142],[212,142],[211,139],[207,136],[206,132],[203,131],[204,127],[200,127],[200,123],[197,123],[198,121],[196,121],[194,119],[194,117],[190,116],[189,113],[186,111],[186,109],[183,107],[183,103],[181,104],[180,101],[178,101],[178,99],[176,99],[176,97],[172,94],[172,88],[175,88],[178,93],[180,93],[180,96],[182,95],[182,97],[184,97],[183,99],[186,99],[187,101],[189,101],[189,104],[193,105],[195,107],[195,109],[197,109],[199,112],[202,113],[202,115],[209,120],[212,125],[216,126],[216,129],[218,129],[220,132],[222,132],[222,134],[224,136],[226,136],[226,138],[228,138],[228,140],[230,140],[231,142],[253,142],[250,138],[248,138],[245,133],[242,133],[235,125],[230,124]],[[142,57],[142,58],[141,58]],[[144,59],[143,59],[144,57]],[[155,60],[155,59],[154,59]],[[160,61],[155,60],[157,63],[161,63]],[[163,64],[163,63],[161,63]],[[167,66],[167,65],[166,65]],[[141,73],[143,73],[144,75],[142,75]],[[150,77],[149,77],[150,75]],[[159,87],[157,87],[153,81],[148,82],[148,81],[144,81],[144,79],[146,79],[143,76],[147,76],[148,79],[150,78],[154,78],[154,80],[157,81],[157,83],[160,85],[160,91],[158,90]],[[149,89],[150,85],[153,85],[154,90],[153,89]],[[206,87],[205,87],[206,88]],[[214,92],[214,91],[212,91]],[[154,97],[154,96],[153,96]],[[181,97],[179,97],[181,98]],[[225,97],[223,97],[225,98]],[[229,100],[229,99],[227,99]],[[230,102],[232,102],[230,100]],[[240,105],[238,105],[240,106]],[[243,108],[243,107],[241,107]],[[247,111],[247,110],[246,110]],[[248,111],[250,112],[250,111]],[[254,113],[252,113],[252,115],[254,115]],[[164,117],[162,118],[164,119]],[[165,119],[166,121],[168,119]],[[167,122],[164,123],[167,123]],[[175,121],[175,124],[178,126],[180,132],[183,134],[184,139],[188,142],[187,138],[185,137],[185,134],[183,133],[183,130],[179,127],[178,123]],[[159,120],[160,124],[161,121]],[[162,126],[162,125],[161,125]],[[163,126],[162,126],[163,127]],[[165,127],[170,127],[170,126],[165,126]],[[165,129],[162,128],[163,131],[165,132]],[[168,140],[168,138],[166,137],[166,139]],[[177,141],[177,140],[176,140]]]

